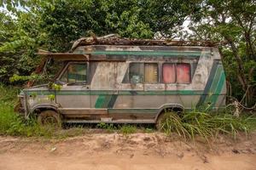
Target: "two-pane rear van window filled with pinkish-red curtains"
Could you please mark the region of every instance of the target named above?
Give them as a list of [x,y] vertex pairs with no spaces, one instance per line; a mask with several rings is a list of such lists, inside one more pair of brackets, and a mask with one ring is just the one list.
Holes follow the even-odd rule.
[[162,65],[162,80],[164,83],[189,83],[190,65],[187,63]]

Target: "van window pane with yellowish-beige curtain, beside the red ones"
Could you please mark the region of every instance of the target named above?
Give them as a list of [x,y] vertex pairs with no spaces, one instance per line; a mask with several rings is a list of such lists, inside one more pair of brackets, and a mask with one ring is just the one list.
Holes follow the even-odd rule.
[[145,80],[146,83],[158,82],[158,64],[145,63]]

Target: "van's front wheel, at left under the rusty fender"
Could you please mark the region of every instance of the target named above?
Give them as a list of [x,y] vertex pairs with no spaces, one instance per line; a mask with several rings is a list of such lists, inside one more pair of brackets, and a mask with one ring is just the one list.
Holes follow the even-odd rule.
[[61,115],[51,110],[42,111],[38,115],[38,123],[41,126],[61,127]]

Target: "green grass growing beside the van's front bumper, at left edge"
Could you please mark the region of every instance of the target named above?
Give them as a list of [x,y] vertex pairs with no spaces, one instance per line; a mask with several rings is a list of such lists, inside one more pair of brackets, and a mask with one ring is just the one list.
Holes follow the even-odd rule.
[[0,84],[0,135],[53,137],[54,127],[41,127],[34,119],[25,120],[14,111],[19,88]]

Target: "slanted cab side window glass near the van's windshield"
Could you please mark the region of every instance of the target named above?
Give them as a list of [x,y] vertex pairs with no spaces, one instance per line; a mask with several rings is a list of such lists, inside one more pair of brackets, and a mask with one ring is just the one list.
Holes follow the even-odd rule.
[[67,66],[62,74],[61,82],[87,82],[87,65],[73,63]]

